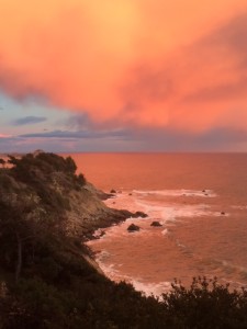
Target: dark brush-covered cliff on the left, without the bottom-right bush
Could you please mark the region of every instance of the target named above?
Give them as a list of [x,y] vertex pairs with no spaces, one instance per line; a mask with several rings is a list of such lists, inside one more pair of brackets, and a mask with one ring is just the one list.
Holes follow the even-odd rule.
[[102,275],[82,243],[132,214],[108,208],[71,158],[0,163],[0,328],[138,328],[149,302]]

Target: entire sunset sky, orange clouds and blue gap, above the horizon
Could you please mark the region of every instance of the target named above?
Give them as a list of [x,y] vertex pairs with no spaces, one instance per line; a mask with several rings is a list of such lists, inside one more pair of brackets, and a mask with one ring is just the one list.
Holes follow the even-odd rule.
[[246,151],[246,0],[0,0],[0,152]]

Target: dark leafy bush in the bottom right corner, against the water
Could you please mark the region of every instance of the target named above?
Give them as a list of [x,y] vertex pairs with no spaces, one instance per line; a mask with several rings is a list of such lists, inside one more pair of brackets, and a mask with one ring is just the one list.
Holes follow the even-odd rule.
[[194,277],[190,288],[176,281],[162,303],[172,328],[247,328],[247,291],[216,277]]

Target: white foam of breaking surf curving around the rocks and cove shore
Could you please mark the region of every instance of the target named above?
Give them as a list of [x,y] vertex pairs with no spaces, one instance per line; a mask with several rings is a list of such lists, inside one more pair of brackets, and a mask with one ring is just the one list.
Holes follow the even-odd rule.
[[[206,195],[205,195],[206,194]],[[161,196],[157,198],[157,196]],[[166,198],[166,196],[168,196]],[[183,218],[189,217],[200,217],[200,216],[222,216],[221,212],[212,212],[211,206],[207,204],[188,204],[181,202],[181,198],[178,198],[178,203],[169,200],[169,196],[216,196],[216,194],[211,190],[205,191],[192,191],[192,190],[161,190],[161,191],[123,191],[122,193],[116,193],[114,198],[109,198],[105,201],[108,206],[114,208],[126,208],[131,212],[142,211],[148,215],[146,218],[127,218],[124,223],[121,223],[116,226],[104,229],[105,235],[100,237],[100,240],[94,240],[89,242],[89,246],[96,243],[96,249],[102,248],[103,250],[96,254],[96,259],[105,273],[108,277],[115,282],[126,281],[132,283],[137,291],[144,292],[146,295],[157,295],[170,290],[170,282],[158,282],[154,283],[154,280],[148,281],[144,277],[132,277],[127,275],[127,268],[125,264],[117,263],[117,257],[115,253],[114,246],[112,249],[112,254],[108,252],[105,246],[114,243],[114,241],[122,241],[124,246],[132,246],[132,241],[136,245],[138,239],[142,237],[160,237],[164,239],[172,238],[170,235],[169,227],[176,225],[177,220],[183,220]],[[228,214],[225,214],[227,216]],[[154,228],[150,226],[151,222],[159,222],[162,227]],[[139,231],[130,234],[127,227],[132,224],[136,224],[141,227]],[[101,231],[98,231],[99,234]],[[102,241],[100,243],[100,241]],[[147,241],[147,240],[145,240]],[[110,245],[109,245],[110,243]],[[175,240],[177,247],[181,250],[181,253],[184,253],[186,257],[194,257],[193,252],[182,243],[182,241]],[[122,245],[122,246],[123,246]],[[108,247],[106,247],[108,248]],[[117,252],[122,252],[120,247],[117,247]],[[136,248],[136,247],[135,247]],[[123,251],[124,252],[124,251]],[[111,259],[112,258],[112,259]],[[123,254],[122,254],[123,258]],[[113,259],[116,261],[113,262]],[[120,261],[121,262],[121,261]]]

